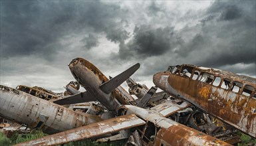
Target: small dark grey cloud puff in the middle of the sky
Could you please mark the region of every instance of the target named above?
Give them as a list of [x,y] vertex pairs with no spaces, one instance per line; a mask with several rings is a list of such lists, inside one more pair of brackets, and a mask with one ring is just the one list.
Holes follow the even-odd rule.
[[120,58],[160,56],[179,43],[180,39],[176,36],[172,27],[137,26],[134,29],[132,40],[126,44],[120,44]]

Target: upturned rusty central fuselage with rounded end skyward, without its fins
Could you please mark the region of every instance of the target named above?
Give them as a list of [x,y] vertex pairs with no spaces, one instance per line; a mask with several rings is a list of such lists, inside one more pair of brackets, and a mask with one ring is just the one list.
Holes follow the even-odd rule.
[[114,111],[120,104],[129,104],[126,102],[124,95],[119,91],[124,90],[123,88],[118,88],[110,94],[100,90],[100,85],[107,82],[108,78],[92,63],[83,58],[75,58],[68,66],[77,82],[108,110]]

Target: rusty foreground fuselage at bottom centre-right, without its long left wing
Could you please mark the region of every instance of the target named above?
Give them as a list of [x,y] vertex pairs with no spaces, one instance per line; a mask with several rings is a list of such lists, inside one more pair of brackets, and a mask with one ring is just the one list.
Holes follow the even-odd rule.
[[[130,105],[122,106],[119,110],[121,109],[127,110],[126,114],[132,113],[144,119],[147,124],[149,122],[154,124],[153,127],[146,125],[143,131],[140,131],[143,133],[142,139],[151,139],[144,145],[229,145],[215,137],[168,119],[154,110]],[[152,131],[154,132],[152,133]],[[152,135],[148,135],[148,133],[152,133]]]

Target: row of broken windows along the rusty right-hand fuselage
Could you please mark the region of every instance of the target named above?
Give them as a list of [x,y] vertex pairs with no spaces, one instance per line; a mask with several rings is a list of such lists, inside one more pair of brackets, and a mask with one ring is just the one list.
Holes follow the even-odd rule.
[[[207,72],[201,72],[200,70],[193,71],[193,67],[182,66],[180,71],[180,66],[172,68],[170,70],[172,74],[180,74],[185,78],[190,78],[192,80],[199,80],[200,82],[205,82],[207,84],[212,84],[213,86],[223,88],[225,90],[231,90],[232,92],[243,94],[244,96],[252,96],[253,86],[243,85],[241,82],[229,80],[228,78],[221,78],[219,76],[213,76]],[[192,74],[193,73],[193,74]],[[256,91],[253,94],[253,98],[256,99]]]

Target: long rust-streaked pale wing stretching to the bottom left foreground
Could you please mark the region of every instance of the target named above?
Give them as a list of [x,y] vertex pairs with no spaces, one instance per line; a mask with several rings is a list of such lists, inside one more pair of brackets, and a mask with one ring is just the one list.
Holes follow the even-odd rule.
[[25,143],[19,143],[18,145],[60,145],[70,141],[98,137],[144,124],[146,124],[146,122],[134,114],[122,115],[98,123],[92,123],[76,129],[70,129],[61,133],[27,141]]

